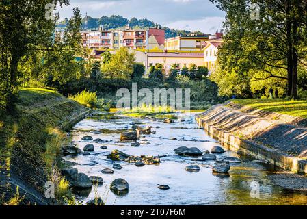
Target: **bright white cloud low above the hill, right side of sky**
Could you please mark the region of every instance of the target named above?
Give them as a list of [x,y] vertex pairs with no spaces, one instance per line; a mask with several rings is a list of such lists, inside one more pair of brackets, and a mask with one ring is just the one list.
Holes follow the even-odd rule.
[[182,20],[166,23],[171,29],[185,29],[189,31],[202,31],[205,34],[215,34],[215,31],[222,29],[224,17],[207,17],[198,20]]

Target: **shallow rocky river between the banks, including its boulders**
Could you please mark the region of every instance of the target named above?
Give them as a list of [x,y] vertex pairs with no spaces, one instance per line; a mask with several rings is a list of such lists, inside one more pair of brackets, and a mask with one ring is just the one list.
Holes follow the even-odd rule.
[[82,180],[73,181],[76,185],[86,185],[74,189],[77,198],[90,205],[97,196],[106,205],[307,203],[306,192],[273,185],[273,166],[241,157],[239,151],[224,151],[198,128],[195,115],[105,114],[82,120],[63,151],[66,162],[77,169],[66,173]]

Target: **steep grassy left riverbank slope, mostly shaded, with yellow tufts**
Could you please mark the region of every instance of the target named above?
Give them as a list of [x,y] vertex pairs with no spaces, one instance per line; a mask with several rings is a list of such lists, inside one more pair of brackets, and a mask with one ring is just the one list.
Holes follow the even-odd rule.
[[26,194],[21,203],[47,204],[42,196],[46,181],[55,183],[56,196],[67,192],[57,170],[59,147],[69,140],[64,129],[87,112],[88,108],[53,90],[19,92],[14,110],[0,116],[0,202],[10,203],[19,187],[20,196]]

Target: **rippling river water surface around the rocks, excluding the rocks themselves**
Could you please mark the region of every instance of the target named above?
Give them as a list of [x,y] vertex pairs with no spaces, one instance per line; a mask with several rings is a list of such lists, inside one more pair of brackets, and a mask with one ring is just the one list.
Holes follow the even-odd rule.
[[[106,205],[306,205],[307,194],[291,192],[273,185],[267,178],[272,166],[252,162],[252,158],[240,157],[235,151],[226,151],[217,155],[221,157],[240,157],[241,164],[230,164],[229,175],[213,175],[214,162],[193,161],[195,157],[181,157],[174,154],[179,146],[197,147],[200,151],[210,150],[219,146],[219,142],[209,137],[198,128],[196,113],[176,114],[185,118],[184,122],[174,124],[163,123],[167,115],[152,119],[132,118],[110,114],[81,120],[72,130],[72,140],[80,149],[86,144],[94,144],[94,152],[89,156],[66,157],[66,161],[74,162],[75,168],[90,176],[103,178],[103,185],[93,186],[92,190],[78,191],[77,198],[81,201],[101,196]],[[150,125],[155,135],[146,136],[150,144],[139,147],[131,144],[118,143],[122,129],[131,129],[133,121]],[[159,127],[159,128],[156,128]],[[100,130],[102,134],[90,134]],[[105,142],[93,143],[81,140],[90,135],[94,139],[101,138]],[[177,138],[177,140],[170,140]],[[101,149],[101,146],[107,149]],[[137,167],[127,162],[113,162],[107,155],[118,149],[129,155],[167,155],[161,158],[159,165]],[[112,168],[114,163],[122,165],[121,170],[114,170],[113,175],[101,173],[104,168]],[[187,172],[185,167],[191,164],[200,166],[199,172]],[[109,190],[114,179],[122,178],[129,183],[129,193],[118,196]],[[251,196],[251,190],[258,195]],[[159,185],[169,185],[170,190],[160,190]]]

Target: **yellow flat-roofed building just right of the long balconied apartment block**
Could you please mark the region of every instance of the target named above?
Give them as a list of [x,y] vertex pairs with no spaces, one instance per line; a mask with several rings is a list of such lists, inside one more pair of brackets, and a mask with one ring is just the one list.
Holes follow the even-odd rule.
[[190,34],[165,40],[165,50],[201,51],[206,46],[209,35]]

